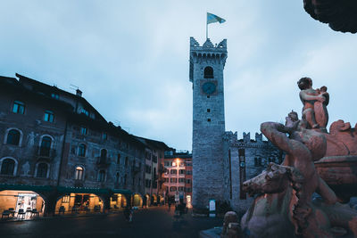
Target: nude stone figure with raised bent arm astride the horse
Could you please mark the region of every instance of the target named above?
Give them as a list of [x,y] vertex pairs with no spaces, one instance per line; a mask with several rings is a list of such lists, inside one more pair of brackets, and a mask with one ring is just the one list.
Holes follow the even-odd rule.
[[262,134],[286,152],[282,165],[297,168],[303,175],[302,181],[298,183],[299,201],[294,215],[299,227],[307,226],[306,217],[311,214],[312,193],[320,193],[326,204],[335,204],[337,201],[336,194],[320,178],[313,164],[326,152],[325,133],[307,129],[307,123],[305,119],[298,120],[297,113],[292,111],[286,117],[286,125],[276,122],[264,122],[261,125]]

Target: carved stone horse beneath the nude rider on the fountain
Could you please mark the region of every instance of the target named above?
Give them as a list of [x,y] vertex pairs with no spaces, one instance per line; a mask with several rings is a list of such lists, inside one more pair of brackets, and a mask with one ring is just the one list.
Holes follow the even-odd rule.
[[[296,221],[303,175],[294,167],[270,163],[261,175],[245,181],[244,190],[258,194],[241,219],[243,233],[249,237],[335,237],[357,235],[357,211],[348,205],[312,201],[304,210],[306,227]],[[300,213],[299,211],[298,213]],[[339,228],[336,228],[339,227]]]

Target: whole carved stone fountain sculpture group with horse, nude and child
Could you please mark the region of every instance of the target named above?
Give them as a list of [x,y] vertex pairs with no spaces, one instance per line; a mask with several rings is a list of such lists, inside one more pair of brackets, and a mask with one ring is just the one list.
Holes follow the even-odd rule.
[[[357,172],[352,169],[357,164],[356,131],[338,120],[328,132],[327,87],[313,89],[311,78],[301,78],[297,85],[302,119],[291,111],[285,125],[261,125],[262,134],[286,157],[281,165],[270,163],[261,175],[245,181],[243,190],[255,199],[241,219],[242,235],[357,237],[357,210],[345,203],[357,192]],[[354,192],[344,196],[344,190],[338,190],[344,185]]]

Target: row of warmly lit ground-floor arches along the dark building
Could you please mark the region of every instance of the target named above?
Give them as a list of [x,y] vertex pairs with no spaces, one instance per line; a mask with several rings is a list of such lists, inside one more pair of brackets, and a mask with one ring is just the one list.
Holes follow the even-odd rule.
[[[0,212],[12,212],[12,217],[18,217],[22,212],[25,218],[37,216],[66,215],[73,213],[104,212],[104,209],[120,210],[127,206],[138,208],[157,205],[163,201],[162,196],[140,193],[112,193],[109,197],[96,193],[62,193],[54,199],[53,196],[29,190],[0,191]],[[53,207],[53,208],[52,208]]]

